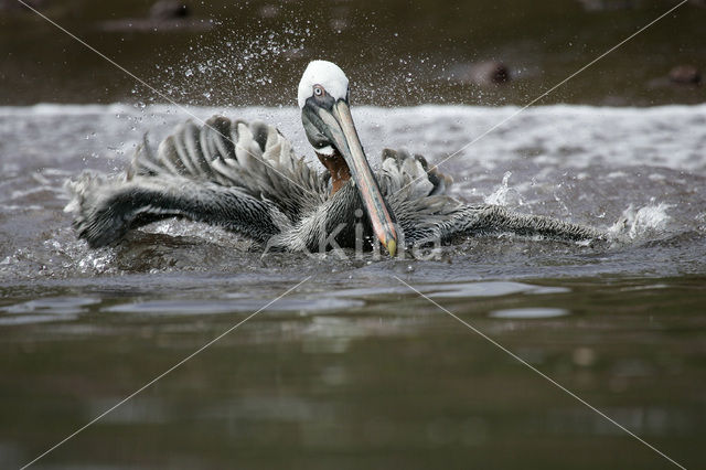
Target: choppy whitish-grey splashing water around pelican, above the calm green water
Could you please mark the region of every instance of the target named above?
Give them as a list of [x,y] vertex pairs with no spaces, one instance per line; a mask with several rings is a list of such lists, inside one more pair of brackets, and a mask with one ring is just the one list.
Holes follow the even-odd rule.
[[[274,122],[292,140],[297,152],[308,154],[310,163],[318,168],[318,162],[311,160],[309,143],[293,107],[191,107],[190,111],[203,119],[222,113],[232,118]],[[454,196],[471,204],[498,204],[521,213],[560,217],[609,229],[619,245],[625,246],[624,242],[628,250],[635,248],[613,264],[593,264],[577,261],[574,257],[576,253],[600,249],[590,245],[567,248],[548,241],[469,238],[464,242],[467,246],[445,252],[443,256],[449,256],[453,265],[439,270],[440,278],[446,279],[452,271],[467,276],[478,269],[483,269],[483,276],[503,278],[656,271],[653,265],[643,263],[644,253],[637,252],[638,246],[651,237],[655,243],[676,237],[668,248],[664,248],[664,253],[673,253],[668,264],[673,273],[700,269],[706,257],[699,255],[703,250],[696,244],[704,236],[699,227],[704,225],[706,201],[698,189],[704,188],[705,171],[688,156],[698,151],[698,140],[693,135],[700,129],[704,111],[702,107],[665,108],[663,114],[657,110],[639,114],[628,109],[614,111],[616,119],[603,118],[601,124],[597,116],[605,116],[603,109],[543,107],[527,110],[509,124],[513,132],[489,135],[474,146],[472,153],[448,161],[442,169],[458,181]],[[385,147],[406,147],[425,154],[434,164],[445,158],[441,149],[463,146],[468,142],[469,129],[483,128],[504,116],[506,110],[427,106],[360,107],[354,113],[373,164]],[[675,113],[684,118],[673,119]],[[556,116],[552,118],[554,114]],[[174,125],[188,117],[173,108],[154,105],[0,108],[0,141],[9,149],[3,154],[7,160],[1,163],[7,171],[4,181],[0,182],[0,278],[84,278],[154,269],[165,273],[261,271],[264,276],[270,276],[275,256],[261,261],[261,253],[244,238],[186,221],[164,221],[136,231],[125,244],[105,252],[89,250],[83,242],[76,241],[71,215],[62,212],[68,202],[62,190],[65,179],[87,168],[110,174],[122,172],[143,132],[149,132],[150,142],[156,146]],[[565,133],[552,128],[552,119],[591,126],[599,136],[596,142],[600,141],[607,153],[625,136],[634,135],[637,127],[655,129],[652,133],[663,131],[672,140],[664,136],[662,140],[655,140],[654,151],[670,156],[671,160],[645,161],[641,151],[623,151],[620,160],[598,159],[592,154],[595,146],[589,143],[584,146],[585,150],[576,148],[567,157]],[[623,126],[623,132],[612,139],[606,138],[608,129],[616,131],[617,120]],[[26,127],[44,131],[28,135],[23,130]],[[542,136],[542,147],[532,154],[523,150],[527,132]],[[86,135],[97,137],[72,139],[72,136]],[[442,141],[440,135],[445,136]],[[681,142],[681,153],[671,151],[674,140]],[[513,146],[518,147],[513,150]],[[689,172],[684,168],[689,168]],[[611,177],[607,178],[609,174]],[[659,203],[651,196],[659,197]],[[628,204],[632,206],[625,210]],[[621,222],[613,224],[617,220]],[[543,265],[544,256],[548,257],[552,269]],[[277,269],[299,271],[301,266],[295,265],[301,259],[292,259],[293,255],[282,256],[277,261]],[[328,260],[304,259],[302,263],[321,264],[312,265],[312,269],[347,269],[341,265],[328,266]],[[349,268],[355,270],[357,265]],[[664,264],[659,269],[664,270]]]

